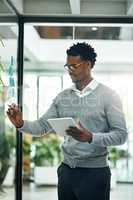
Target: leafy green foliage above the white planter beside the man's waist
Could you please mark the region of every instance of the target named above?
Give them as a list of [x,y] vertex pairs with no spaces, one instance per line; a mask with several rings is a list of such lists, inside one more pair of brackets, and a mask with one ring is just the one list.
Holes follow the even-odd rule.
[[61,162],[61,140],[56,134],[48,134],[34,140],[35,155],[33,162],[36,166],[54,166]]

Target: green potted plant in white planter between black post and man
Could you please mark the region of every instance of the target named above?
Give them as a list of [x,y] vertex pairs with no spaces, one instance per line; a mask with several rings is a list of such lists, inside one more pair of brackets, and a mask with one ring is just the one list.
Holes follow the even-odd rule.
[[38,185],[57,185],[57,167],[62,161],[61,139],[56,134],[48,134],[35,139],[34,178]]

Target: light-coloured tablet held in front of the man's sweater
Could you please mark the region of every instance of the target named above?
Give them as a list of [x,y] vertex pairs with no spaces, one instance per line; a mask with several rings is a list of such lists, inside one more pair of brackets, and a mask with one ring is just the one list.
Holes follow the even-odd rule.
[[66,135],[66,129],[69,126],[76,126],[76,122],[71,117],[48,119],[47,121],[60,136]]

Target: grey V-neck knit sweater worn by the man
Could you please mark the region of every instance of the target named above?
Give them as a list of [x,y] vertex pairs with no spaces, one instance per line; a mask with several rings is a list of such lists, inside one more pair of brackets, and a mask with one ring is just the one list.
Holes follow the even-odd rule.
[[73,117],[93,134],[92,142],[79,142],[67,136],[62,144],[64,163],[70,167],[105,167],[107,146],[126,141],[127,129],[122,104],[115,91],[99,84],[89,95],[80,98],[72,89],[66,89],[54,99],[47,112],[36,121],[24,121],[19,130],[35,136],[53,132],[49,118]]

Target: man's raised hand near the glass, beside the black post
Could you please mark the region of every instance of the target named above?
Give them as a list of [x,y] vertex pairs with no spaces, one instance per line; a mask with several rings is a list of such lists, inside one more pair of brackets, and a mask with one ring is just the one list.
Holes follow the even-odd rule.
[[9,105],[7,116],[16,128],[20,128],[23,126],[24,122],[22,119],[22,113],[16,104],[13,103]]

